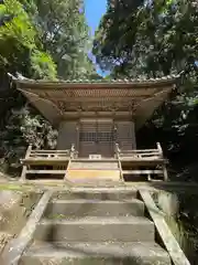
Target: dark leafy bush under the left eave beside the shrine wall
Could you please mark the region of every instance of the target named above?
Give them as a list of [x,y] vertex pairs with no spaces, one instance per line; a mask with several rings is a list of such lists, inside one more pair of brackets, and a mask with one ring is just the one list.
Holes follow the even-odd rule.
[[4,129],[0,134],[0,165],[6,171],[18,173],[21,165],[19,159],[24,157],[30,144],[34,148],[54,149],[57,131],[40,115],[30,108],[12,110]]

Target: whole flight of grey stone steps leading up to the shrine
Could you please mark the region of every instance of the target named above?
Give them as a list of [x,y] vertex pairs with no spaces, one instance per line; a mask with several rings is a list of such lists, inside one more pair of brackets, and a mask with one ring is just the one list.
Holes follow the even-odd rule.
[[55,192],[20,265],[170,265],[135,189]]

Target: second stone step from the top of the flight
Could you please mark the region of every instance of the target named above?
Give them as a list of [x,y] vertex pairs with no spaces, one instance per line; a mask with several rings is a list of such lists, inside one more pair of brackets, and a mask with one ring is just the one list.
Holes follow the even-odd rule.
[[67,216],[143,216],[144,203],[138,199],[125,201],[100,200],[53,200],[47,205],[45,216],[51,219]]

